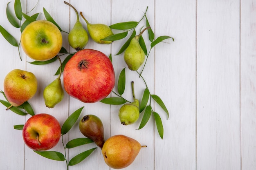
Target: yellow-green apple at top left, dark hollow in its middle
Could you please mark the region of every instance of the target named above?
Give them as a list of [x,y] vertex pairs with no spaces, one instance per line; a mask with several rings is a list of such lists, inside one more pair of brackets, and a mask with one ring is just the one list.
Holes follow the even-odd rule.
[[47,20],[31,22],[21,33],[23,51],[33,60],[47,61],[55,57],[62,47],[61,31]]

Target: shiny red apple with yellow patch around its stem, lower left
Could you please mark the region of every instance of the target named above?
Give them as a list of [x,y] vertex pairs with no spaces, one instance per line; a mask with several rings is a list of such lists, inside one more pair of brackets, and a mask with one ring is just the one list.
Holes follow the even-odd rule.
[[25,144],[33,150],[49,150],[61,138],[61,126],[52,115],[40,113],[30,117],[24,124],[22,136]]

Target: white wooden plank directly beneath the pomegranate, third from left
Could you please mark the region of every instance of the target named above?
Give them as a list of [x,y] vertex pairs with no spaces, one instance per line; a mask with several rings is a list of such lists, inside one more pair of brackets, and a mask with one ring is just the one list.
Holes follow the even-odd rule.
[[[83,13],[83,16],[90,22],[91,24],[106,24],[110,25],[110,1],[76,1],[71,0],[70,3],[76,8],[76,10],[80,13],[80,11]],[[67,5],[66,5],[67,6]],[[73,11],[73,9],[70,10],[70,29],[73,28],[74,23],[76,22],[76,15]],[[83,27],[87,29],[87,25],[83,18],[80,17],[80,22],[83,24]],[[94,49],[101,51],[105,53],[107,56],[110,55],[110,44],[97,44],[92,41],[89,35],[89,41],[88,44],[85,46],[86,49]],[[74,51],[74,50],[71,50]],[[104,126],[104,135],[105,138],[107,138],[110,134],[110,106],[107,104],[102,104],[100,102],[94,103],[94,104],[85,104],[83,102],[78,101],[77,99],[74,99],[70,97],[70,114],[73,113],[78,108],[83,107],[82,113],[79,117],[80,121],[83,116],[85,115],[96,115],[98,116]],[[70,130],[69,133],[69,139],[75,139],[79,137],[85,137],[81,134],[79,130],[79,124],[75,124],[75,126]],[[89,150],[91,148],[97,147],[95,144],[87,144],[85,146],[80,146],[77,148],[72,148],[69,151],[69,160],[72,159],[74,156],[78,155],[79,153]],[[101,153],[101,149],[97,148],[94,150],[94,152],[85,160],[83,160],[81,163],[70,166],[70,170],[76,170],[77,168],[84,168],[84,167],[90,167],[91,169],[108,169],[108,166],[106,166],[104,162],[103,155]]]

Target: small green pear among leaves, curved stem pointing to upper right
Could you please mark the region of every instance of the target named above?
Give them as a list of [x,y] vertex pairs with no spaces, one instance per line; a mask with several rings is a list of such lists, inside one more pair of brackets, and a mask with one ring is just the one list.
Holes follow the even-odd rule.
[[141,34],[150,27],[145,28],[139,35],[136,35],[130,41],[129,46],[124,51],[124,61],[128,68],[132,71],[137,71],[139,67],[144,63],[145,53],[139,44],[139,38]]

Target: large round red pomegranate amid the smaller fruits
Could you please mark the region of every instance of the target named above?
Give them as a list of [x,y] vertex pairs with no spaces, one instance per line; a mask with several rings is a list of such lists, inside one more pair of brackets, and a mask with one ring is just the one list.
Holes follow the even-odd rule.
[[98,102],[115,86],[112,62],[100,51],[78,51],[65,65],[63,84],[71,97],[85,103]]

